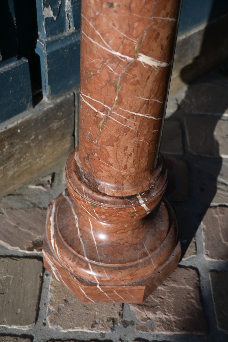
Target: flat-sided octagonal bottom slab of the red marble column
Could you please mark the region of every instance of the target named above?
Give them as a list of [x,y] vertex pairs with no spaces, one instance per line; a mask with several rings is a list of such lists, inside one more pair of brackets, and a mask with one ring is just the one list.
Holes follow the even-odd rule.
[[132,284],[101,285],[85,281],[77,277],[56,261],[50,250],[44,245],[44,267],[68,288],[82,302],[115,302],[115,303],[142,303],[167,277],[177,268],[180,259],[180,244],[178,242],[169,260],[153,273],[152,276]]

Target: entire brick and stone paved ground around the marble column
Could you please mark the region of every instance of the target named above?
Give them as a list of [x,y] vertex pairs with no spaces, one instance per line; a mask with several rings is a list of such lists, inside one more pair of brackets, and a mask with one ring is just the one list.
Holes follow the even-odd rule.
[[169,99],[162,152],[183,259],[143,304],[79,302],[42,266],[59,165],[0,201],[0,341],[228,341],[228,78],[220,69]]

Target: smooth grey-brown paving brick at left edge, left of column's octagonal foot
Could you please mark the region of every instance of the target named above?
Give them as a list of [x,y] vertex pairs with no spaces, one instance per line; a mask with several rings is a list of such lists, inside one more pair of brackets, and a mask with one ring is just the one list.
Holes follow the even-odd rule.
[[42,270],[36,259],[0,258],[0,324],[35,324]]

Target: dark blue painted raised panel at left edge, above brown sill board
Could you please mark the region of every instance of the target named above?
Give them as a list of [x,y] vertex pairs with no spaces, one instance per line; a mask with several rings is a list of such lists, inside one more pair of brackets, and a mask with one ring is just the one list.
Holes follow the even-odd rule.
[[12,57],[0,63],[0,122],[32,107],[28,60]]

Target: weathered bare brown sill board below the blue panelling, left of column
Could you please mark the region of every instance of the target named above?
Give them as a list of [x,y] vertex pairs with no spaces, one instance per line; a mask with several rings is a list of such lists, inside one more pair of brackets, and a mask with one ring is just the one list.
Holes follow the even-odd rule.
[[73,147],[74,95],[0,126],[0,196],[10,193],[63,158]]

